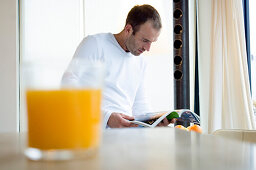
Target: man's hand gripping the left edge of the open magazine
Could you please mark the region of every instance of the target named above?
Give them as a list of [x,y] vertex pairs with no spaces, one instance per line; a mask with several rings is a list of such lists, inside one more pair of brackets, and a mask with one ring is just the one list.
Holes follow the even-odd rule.
[[129,120],[134,120],[133,116],[127,116],[123,113],[112,113],[108,119],[108,126],[111,128],[137,127]]

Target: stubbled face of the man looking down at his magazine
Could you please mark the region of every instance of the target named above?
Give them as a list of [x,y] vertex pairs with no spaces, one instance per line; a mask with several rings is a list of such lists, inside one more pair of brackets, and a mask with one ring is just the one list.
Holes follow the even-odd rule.
[[145,50],[149,51],[152,42],[155,42],[160,34],[160,30],[153,28],[151,21],[140,25],[139,30],[132,34],[132,31],[125,42],[126,48],[133,55],[139,56]]

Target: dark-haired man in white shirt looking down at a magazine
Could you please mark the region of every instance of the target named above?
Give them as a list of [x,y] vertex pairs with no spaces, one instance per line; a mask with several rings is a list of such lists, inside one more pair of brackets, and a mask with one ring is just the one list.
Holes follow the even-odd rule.
[[[105,127],[134,127],[136,125],[129,121],[134,115],[151,111],[144,83],[146,64],[139,55],[150,50],[161,27],[160,15],[155,8],[137,5],[128,13],[120,33],[88,36],[77,48],[74,59],[99,60],[105,64],[102,103]],[[72,70],[68,69],[62,82],[65,84],[71,79]]]

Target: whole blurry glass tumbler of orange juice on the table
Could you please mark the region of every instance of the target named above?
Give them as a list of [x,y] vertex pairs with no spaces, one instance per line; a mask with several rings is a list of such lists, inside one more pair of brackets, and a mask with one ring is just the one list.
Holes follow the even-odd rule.
[[27,149],[31,160],[95,155],[101,139],[100,62],[73,60],[64,73],[49,65],[24,65]]

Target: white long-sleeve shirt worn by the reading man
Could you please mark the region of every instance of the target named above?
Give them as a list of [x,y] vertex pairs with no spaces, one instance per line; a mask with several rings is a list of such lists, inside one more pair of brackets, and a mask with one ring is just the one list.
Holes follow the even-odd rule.
[[[113,34],[103,33],[84,38],[72,61],[76,59],[101,61],[105,64],[102,101],[104,127],[107,127],[108,119],[113,112],[131,116],[151,111],[144,82],[145,59],[125,52]],[[83,66],[81,64],[78,67]],[[66,70],[62,84],[68,84],[78,78],[73,68],[69,66]]]

